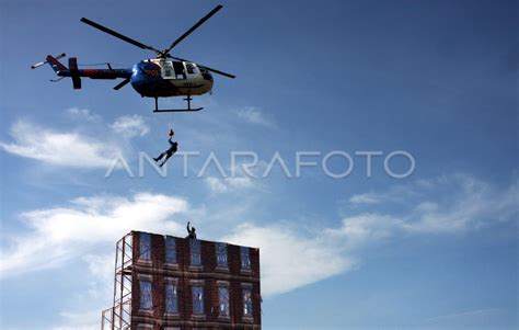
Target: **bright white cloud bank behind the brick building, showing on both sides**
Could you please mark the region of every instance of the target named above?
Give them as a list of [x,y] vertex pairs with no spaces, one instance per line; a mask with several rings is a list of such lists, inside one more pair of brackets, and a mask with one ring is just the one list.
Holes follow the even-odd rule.
[[[77,260],[103,243],[113,243],[131,230],[184,234],[185,217],[196,213],[187,201],[161,194],[138,193],[131,197],[93,196],[72,200],[67,206],[22,214],[25,235],[12,239],[0,257],[2,277],[57,268]],[[172,220],[176,216],[176,220]],[[178,217],[183,218],[178,220]],[[207,230],[206,230],[207,231]],[[211,232],[205,232],[211,237]],[[212,235],[215,240],[218,235]],[[238,227],[221,238],[262,249],[263,289],[274,295],[333,276],[351,266],[351,261],[319,235],[303,235],[288,226]],[[112,255],[113,259],[113,255]],[[103,281],[113,272],[109,257],[83,257],[92,278],[92,298],[106,294]],[[101,278],[101,280],[100,280]],[[108,287],[109,288],[109,287]],[[109,294],[109,293],[108,293]]]

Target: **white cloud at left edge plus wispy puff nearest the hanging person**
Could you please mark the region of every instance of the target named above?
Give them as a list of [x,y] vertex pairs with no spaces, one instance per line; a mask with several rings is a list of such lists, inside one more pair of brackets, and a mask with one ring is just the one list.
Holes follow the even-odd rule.
[[81,125],[59,130],[21,120],[10,128],[12,141],[0,141],[0,148],[50,166],[108,169],[117,157],[131,150],[130,138],[149,132],[139,115],[122,116],[107,125],[88,109],[71,107],[66,113],[81,120]]

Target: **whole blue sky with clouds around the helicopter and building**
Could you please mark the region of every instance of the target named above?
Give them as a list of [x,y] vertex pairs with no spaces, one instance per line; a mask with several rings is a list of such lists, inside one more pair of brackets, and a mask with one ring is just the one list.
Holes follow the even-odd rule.
[[[47,54],[130,67],[148,54],[89,18],[165,47],[218,2],[1,1],[1,327],[94,329],[111,304],[114,242],[131,229],[260,247],[265,329],[516,329],[516,1],[222,1],[174,55],[216,78],[196,114],[154,115],[130,86],[48,82]],[[173,105],[178,101],[166,101]],[[162,178],[175,129],[189,159]],[[354,169],[287,179],[198,172],[211,151],[341,150]],[[366,175],[366,158],[381,151]],[[413,156],[405,179],[384,172]],[[136,174],[105,173],[120,152]],[[405,171],[402,158],[391,162]],[[344,170],[334,158],[330,169]],[[28,311],[28,315],[27,315]]]

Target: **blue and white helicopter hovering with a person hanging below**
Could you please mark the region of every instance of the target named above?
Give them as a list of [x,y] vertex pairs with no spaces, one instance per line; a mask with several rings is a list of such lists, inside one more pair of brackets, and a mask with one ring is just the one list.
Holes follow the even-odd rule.
[[[95,23],[89,19],[82,18],[81,22],[101,30],[112,36],[115,36],[122,41],[125,41],[134,46],[141,49],[147,49],[155,53],[155,58],[143,59],[140,62],[134,65],[132,68],[114,69],[107,64],[107,69],[79,69],[78,59],[76,57],[68,58],[68,68],[59,61],[60,58],[66,57],[66,54],[59,56],[47,55],[45,61],[33,65],[31,68],[35,69],[43,65],[48,64],[58,79],[50,81],[59,81],[64,78],[71,78],[73,89],[81,89],[81,78],[88,77],[91,79],[124,79],[114,90],[119,90],[125,87],[128,82],[142,98],[154,99],[153,112],[193,112],[199,111],[203,107],[192,107],[191,101],[193,95],[201,95],[212,91],[214,79],[212,73],[217,73],[228,78],[235,78],[234,75],[227,73],[217,69],[212,69],[208,66],[197,64],[195,61],[172,56],[170,52],[192,34],[196,29],[209,20],[220,9],[221,4],[218,4],[204,18],[201,18],[195,25],[187,30],[183,35],[176,38],[168,48],[160,50],[152,46],[145,45],[134,38],[125,36],[114,30],[107,29],[99,23]],[[185,96],[184,101],[187,101],[186,109],[159,109],[159,98],[171,98],[171,96]]]

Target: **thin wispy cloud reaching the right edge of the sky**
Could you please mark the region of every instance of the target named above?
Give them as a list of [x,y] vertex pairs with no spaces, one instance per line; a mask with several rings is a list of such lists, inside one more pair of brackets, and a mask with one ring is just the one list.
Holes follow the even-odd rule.
[[[401,194],[403,190],[405,200]],[[378,194],[380,208],[392,206],[397,209],[394,213],[377,213],[372,203],[366,203],[369,200],[359,197],[364,195],[354,196],[353,204],[367,204],[370,210],[345,217],[339,228],[327,229],[327,232],[345,238],[349,244],[360,246],[399,232],[439,235],[474,230],[498,221],[517,220],[518,195],[517,181],[499,190],[462,174],[443,175],[429,182],[419,180]]]

